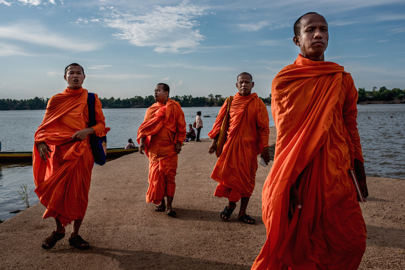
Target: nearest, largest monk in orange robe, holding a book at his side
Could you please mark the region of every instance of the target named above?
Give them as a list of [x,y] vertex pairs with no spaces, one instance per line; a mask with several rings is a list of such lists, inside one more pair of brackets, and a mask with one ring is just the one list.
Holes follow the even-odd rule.
[[366,224],[349,169],[368,196],[357,91],[342,66],[324,62],[325,18],[305,14],[294,33],[301,54],[271,88],[277,141],[262,193],[267,240],[252,269],[357,269]]

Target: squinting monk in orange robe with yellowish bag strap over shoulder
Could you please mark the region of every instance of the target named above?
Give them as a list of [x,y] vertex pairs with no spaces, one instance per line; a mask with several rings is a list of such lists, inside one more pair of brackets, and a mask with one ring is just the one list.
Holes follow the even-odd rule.
[[[270,161],[269,116],[263,101],[256,93],[252,94],[254,85],[251,74],[244,72],[237,76],[238,93],[233,97],[229,110],[227,139],[211,174],[211,178],[219,183],[214,196],[225,197],[229,201],[220,217],[227,221],[236,208],[236,202],[241,200],[238,219],[248,224],[255,223],[255,219],[246,213],[246,208],[255,188],[257,155],[261,154],[266,164]],[[208,133],[213,139],[210,154],[217,149],[227,106],[228,99]]]

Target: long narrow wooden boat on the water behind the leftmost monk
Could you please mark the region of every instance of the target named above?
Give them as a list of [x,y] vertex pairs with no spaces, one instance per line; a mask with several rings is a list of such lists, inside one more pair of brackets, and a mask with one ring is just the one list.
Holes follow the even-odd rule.
[[[118,158],[138,151],[139,151],[138,147],[131,149],[108,148],[107,159]],[[14,151],[0,152],[0,163],[18,163],[31,161],[32,161],[32,152],[14,152]]]

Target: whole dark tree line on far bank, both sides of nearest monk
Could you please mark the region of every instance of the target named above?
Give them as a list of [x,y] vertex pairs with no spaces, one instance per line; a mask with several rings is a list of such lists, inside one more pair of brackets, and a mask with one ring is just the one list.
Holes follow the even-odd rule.
[[[377,91],[377,87],[373,87],[373,91],[366,91],[365,88],[358,88],[358,100],[357,103],[367,101],[392,101],[394,99],[404,100],[405,90],[399,88],[387,89],[385,86],[380,87]],[[226,97],[222,95],[210,94],[208,97],[192,97],[187,96],[174,96],[171,99],[178,101],[182,107],[204,107],[204,106],[222,106]],[[264,104],[270,105],[271,94],[268,98],[260,98]],[[44,98],[35,97],[29,100],[0,100],[0,110],[45,110],[47,108],[48,100]],[[151,106],[155,99],[152,95],[142,98],[135,96],[128,99],[114,99],[113,97],[100,98],[102,107],[106,108],[147,108]]]

